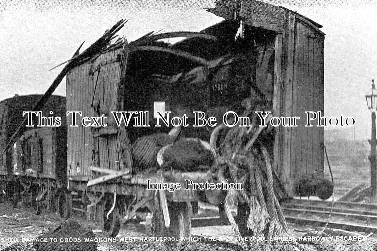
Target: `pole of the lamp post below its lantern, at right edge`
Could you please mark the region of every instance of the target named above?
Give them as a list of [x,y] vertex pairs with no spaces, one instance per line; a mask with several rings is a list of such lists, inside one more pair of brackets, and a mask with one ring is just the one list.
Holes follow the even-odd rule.
[[372,112],[372,138],[371,138],[371,202],[376,202],[377,190],[377,163],[376,163],[376,114]]

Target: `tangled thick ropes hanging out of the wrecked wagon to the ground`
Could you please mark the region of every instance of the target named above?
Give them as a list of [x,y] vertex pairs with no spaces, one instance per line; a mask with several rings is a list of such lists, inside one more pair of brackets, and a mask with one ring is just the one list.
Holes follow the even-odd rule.
[[[251,121],[255,122],[254,114],[245,111],[243,116],[251,116]],[[267,123],[272,116],[267,118]],[[254,120],[253,120],[254,119]],[[239,240],[242,249],[250,251],[264,250],[317,250],[314,246],[299,244],[290,238],[287,222],[285,221],[283,210],[276,198],[273,187],[273,175],[270,154],[266,146],[260,140],[262,130],[246,129],[244,127],[234,126],[228,130],[223,140],[221,153],[216,151],[219,134],[226,127],[217,126],[210,138],[210,145],[215,151],[215,167],[219,172],[219,180],[227,182],[224,177],[224,166],[228,167],[228,182],[245,183],[250,182],[250,194],[245,190],[228,190],[224,200],[224,210],[230,225]],[[248,179],[246,179],[246,178]],[[246,182],[246,183],[248,183]],[[247,243],[241,238],[239,226],[234,220],[231,212],[231,205],[234,200],[244,201],[250,208],[246,225],[249,230],[253,231],[253,236],[264,236],[264,239],[248,241]],[[268,232],[266,233],[265,230]],[[284,237],[283,240],[274,239],[274,237]]]

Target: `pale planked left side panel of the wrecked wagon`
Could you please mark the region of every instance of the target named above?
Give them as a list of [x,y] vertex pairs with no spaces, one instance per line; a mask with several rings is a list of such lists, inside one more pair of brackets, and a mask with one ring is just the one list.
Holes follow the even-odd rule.
[[[75,67],[67,74],[67,111],[81,111],[82,116],[107,117],[106,127],[71,127],[67,119],[67,166],[72,180],[89,180],[91,164],[120,170],[116,134],[109,134],[111,111],[116,111],[122,49],[110,50],[92,61]],[[94,154],[94,155],[93,155]]]

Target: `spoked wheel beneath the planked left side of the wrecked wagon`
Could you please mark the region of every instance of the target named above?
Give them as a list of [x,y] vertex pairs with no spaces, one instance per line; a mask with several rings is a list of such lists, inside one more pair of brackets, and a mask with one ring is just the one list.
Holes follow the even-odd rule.
[[108,196],[104,199],[102,207],[102,228],[109,234],[110,237],[116,237],[118,235],[121,224],[121,213],[118,203],[116,203],[115,208],[112,213],[109,214],[109,217],[106,217],[113,204],[114,198]]

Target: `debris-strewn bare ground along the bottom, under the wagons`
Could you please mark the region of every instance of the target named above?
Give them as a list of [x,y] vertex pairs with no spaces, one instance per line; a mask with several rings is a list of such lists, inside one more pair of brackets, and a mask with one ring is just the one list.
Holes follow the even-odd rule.
[[[10,204],[0,204],[0,250],[35,250],[30,239],[37,237],[42,233],[50,229],[54,229],[60,224],[57,214],[52,212],[46,212],[42,216],[35,216],[33,213],[29,212],[27,208],[12,208]],[[92,222],[88,222],[83,218],[74,216],[75,221],[77,221],[83,227],[91,227],[94,230],[97,237],[101,237],[101,232]],[[288,224],[292,235],[295,237],[303,236],[308,231],[313,231],[313,226],[311,225],[300,225],[300,224]],[[237,242],[232,240],[233,231],[229,225],[223,226],[209,226],[209,227],[193,227],[192,229],[193,237],[201,239],[198,242],[192,242],[189,249],[187,250],[208,250],[208,251],[238,251],[241,250]],[[127,251],[164,251],[167,250],[163,242],[149,242],[140,241],[139,238],[149,237],[145,231],[142,224],[138,222],[132,222],[121,228],[118,235],[118,240],[122,237],[132,237],[132,242],[99,242],[98,251],[100,250],[127,250]],[[207,239],[206,239],[207,237]],[[213,237],[217,240],[227,239],[229,242],[210,242],[208,237]],[[375,237],[371,236],[372,239]],[[233,242],[233,243],[231,243]],[[349,242],[351,245],[354,242]],[[13,245],[12,245],[13,244]],[[364,243],[362,248],[349,249],[352,250],[373,250],[373,244],[368,242]],[[334,249],[328,249],[334,250]],[[344,249],[339,249],[342,251]]]

